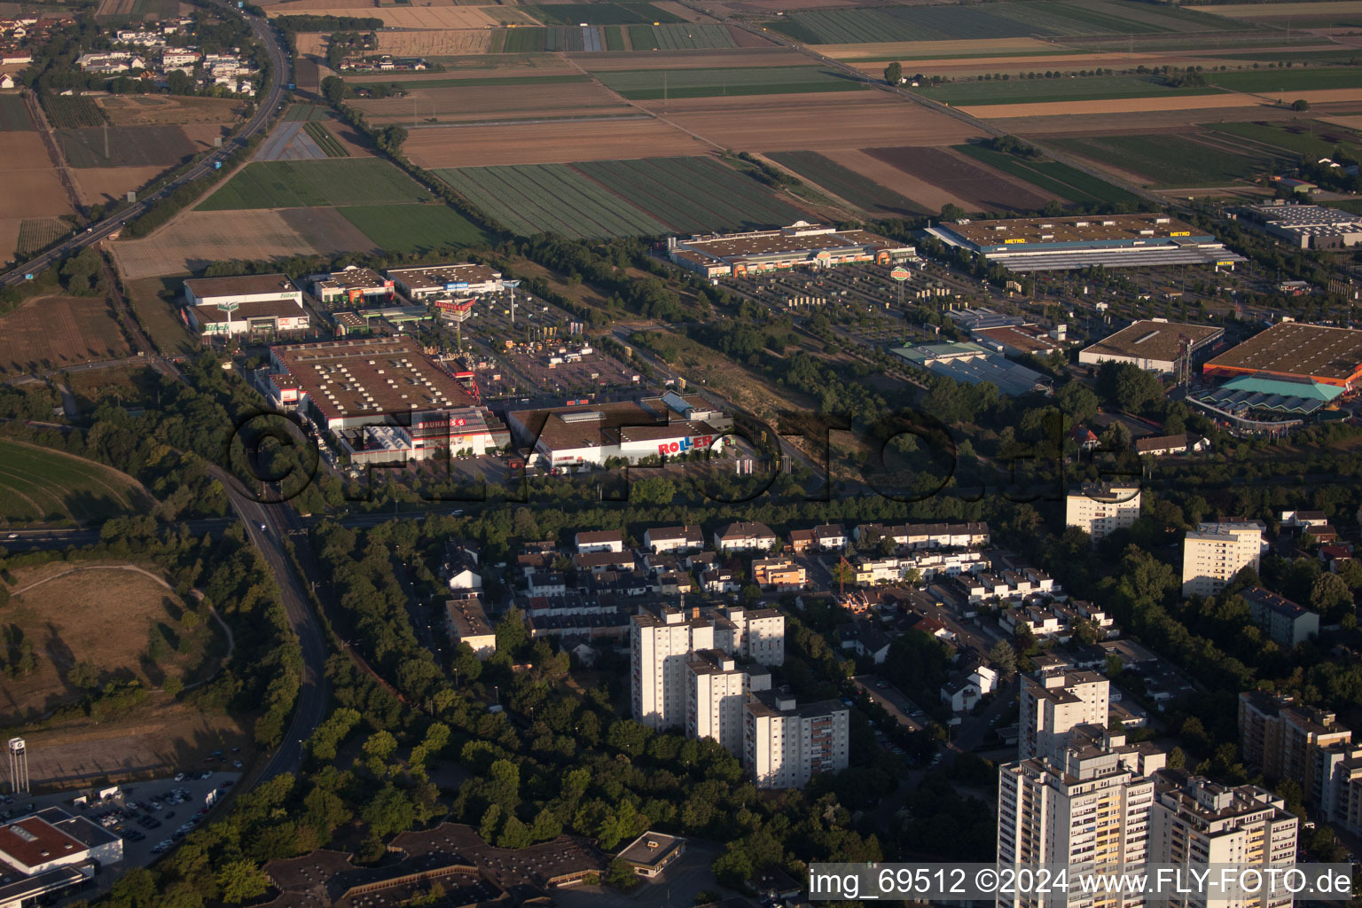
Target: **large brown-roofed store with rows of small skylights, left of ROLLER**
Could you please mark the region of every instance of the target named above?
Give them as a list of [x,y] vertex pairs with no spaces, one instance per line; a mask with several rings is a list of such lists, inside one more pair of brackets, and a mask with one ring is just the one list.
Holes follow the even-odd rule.
[[475,393],[407,338],[275,346],[263,384],[282,408],[301,408],[334,433],[357,463],[485,453],[509,441]]

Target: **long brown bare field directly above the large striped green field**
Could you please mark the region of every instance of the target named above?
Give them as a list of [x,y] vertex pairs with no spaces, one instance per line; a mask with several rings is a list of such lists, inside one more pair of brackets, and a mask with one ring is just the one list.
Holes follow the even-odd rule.
[[481,167],[696,155],[711,147],[658,120],[582,120],[413,129],[402,150],[422,167]]

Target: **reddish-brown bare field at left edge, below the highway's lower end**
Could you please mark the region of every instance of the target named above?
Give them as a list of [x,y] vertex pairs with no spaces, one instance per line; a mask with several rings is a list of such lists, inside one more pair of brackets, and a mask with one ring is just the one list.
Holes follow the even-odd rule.
[[117,359],[131,353],[104,297],[38,297],[0,317],[0,372]]

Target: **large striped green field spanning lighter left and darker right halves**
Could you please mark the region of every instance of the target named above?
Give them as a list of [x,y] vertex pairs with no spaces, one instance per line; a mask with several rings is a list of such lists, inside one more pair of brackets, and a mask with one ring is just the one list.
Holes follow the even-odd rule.
[[629,237],[787,225],[804,216],[750,177],[710,158],[436,172],[516,233]]

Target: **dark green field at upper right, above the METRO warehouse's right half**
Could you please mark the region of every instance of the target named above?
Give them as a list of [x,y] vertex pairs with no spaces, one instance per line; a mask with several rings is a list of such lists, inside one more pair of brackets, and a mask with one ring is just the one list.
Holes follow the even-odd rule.
[[1263,173],[1271,161],[1215,148],[1174,135],[1056,139],[1076,155],[1141,173],[1159,187],[1223,187]]

